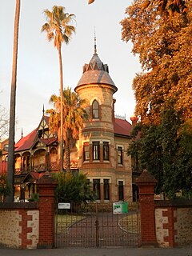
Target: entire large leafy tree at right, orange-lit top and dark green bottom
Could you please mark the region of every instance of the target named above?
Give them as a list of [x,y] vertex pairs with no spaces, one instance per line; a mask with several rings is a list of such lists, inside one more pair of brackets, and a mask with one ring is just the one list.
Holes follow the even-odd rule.
[[[169,4],[169,2],[168,2]],[[187,14],[161,13],[137,0],[126,9],[122,39],[133,43],[142,72],[134,78],[135,114],[140,123],[128,154],[158,179],[157,191],[173,197],[191,190],[192,3]],[[140,134],[138,140],[136,134]]]

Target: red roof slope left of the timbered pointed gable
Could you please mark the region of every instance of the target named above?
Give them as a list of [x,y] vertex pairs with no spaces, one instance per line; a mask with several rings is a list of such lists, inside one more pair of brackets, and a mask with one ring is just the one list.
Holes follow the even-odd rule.
[[33,146],[34,138],[37,135],[37,128],[34,129],[30,134],[26,135],[26,137],[21,138],[14,146],[14,151],[21,150],[29,150],[31,146]]

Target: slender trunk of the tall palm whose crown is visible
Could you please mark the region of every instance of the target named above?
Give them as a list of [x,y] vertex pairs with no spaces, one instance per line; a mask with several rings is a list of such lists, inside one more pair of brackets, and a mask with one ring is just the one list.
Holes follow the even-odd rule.
[[62,78],[62,52],[61,46],[58,49],[60,68],[60,94],[61,94],[61,139],[60,139],[60,172],[63,170],[63,78]]

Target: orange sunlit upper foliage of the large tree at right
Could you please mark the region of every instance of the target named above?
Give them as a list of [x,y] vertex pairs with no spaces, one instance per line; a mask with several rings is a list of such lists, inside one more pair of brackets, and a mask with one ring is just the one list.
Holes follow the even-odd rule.
[[142,2],[134,1],[121,22],[122,39],[133,42],[143,70],[133,82],[135,114],[142,123],[157,124],[170,102],[186,121],[192,116],[192,3],[186,15],[174,17],[173,30],[166,13],[160,18],[157,8],[143,10]]

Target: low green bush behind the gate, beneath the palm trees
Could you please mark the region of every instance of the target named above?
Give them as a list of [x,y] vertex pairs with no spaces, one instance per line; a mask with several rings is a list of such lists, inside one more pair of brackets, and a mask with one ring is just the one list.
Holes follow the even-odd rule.
[[90,190],[90,183],[85,174],[72,174],[71,172],[54,174],[58,186],[55,196],[58,202],[87,202],[94,201]]

